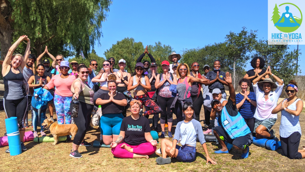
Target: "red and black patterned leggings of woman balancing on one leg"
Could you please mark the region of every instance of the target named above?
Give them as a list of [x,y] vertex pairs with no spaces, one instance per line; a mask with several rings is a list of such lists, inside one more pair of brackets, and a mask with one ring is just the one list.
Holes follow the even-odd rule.
[[141,107],[142,109],[143,109],[143,105],[145,105],[150,109],[145,111],[143,113],[144,115],[159,114],[161,112],[161,108],[149,98],[147,92],[144,95],[136,95],[135,99],[139,100],[142,103],[142,107]]

